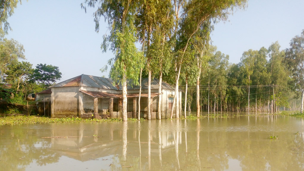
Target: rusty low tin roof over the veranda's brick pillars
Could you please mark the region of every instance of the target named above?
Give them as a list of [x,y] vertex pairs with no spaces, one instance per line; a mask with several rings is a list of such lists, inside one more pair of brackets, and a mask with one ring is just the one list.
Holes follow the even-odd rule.
[[[92,97],[112,97],[112,98],[119,98],[119,99],[122,99],[123,98],[123,95],[122,94],[115,94],[115,93],[107,93],[107,92],[95,92],[95,91],[87,91],[87,90],[80,90],[80,92],[83,92],[89,96],[92,96]],[[141,97],[148,97],[148,94],[147,93],[141,93],[140,95]],[[151,97],[156,97],[158,96],[158,93],[151,93]],[[139,97],[139,94],[127,94],[127,97]]]

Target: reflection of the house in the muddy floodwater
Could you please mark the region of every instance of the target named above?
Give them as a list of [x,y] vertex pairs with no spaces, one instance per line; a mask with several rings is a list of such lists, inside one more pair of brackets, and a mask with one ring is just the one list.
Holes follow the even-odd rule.
[[79,123],[77,129],[69,123],[52,125],[52,149],[82,162],[113,156],[131,162],[130,158],[143,156],[150,168],[151,155],[161,161],[161,153],[174,151],[175,143],[181,144],[181,132],[155,131],[159,122]]

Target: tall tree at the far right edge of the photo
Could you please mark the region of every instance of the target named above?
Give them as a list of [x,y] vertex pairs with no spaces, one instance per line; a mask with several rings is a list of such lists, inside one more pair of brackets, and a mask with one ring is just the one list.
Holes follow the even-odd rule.
[[301,113],[304,104],[304,30],[300,36],[295,36],[290,41],[290,48],[285,50],[285,63],[292,73],[292,80],[296,92],[302,93]]

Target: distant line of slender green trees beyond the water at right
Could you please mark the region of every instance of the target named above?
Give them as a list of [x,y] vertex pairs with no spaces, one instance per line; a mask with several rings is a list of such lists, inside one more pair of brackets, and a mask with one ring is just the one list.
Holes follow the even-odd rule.
[[[303,92],[297,83],[300,77],[291,69],[296,68],[296,60],[300,59],[292,57],[292,47],[280,50],[280,45],[275,42],[268,49],[250,49],[243,53],[238,64],[229,63],[229,56],[216,51],[215,47],[209,51],[199,81],[200,110],[277,112],[286,108],[301,109],[297,100]],[[186,82],[183,80],[182,83],[184,90]],[[188,111],[196,110],[195,86],[192,82],[188,88],[190,94],[185,98]]]

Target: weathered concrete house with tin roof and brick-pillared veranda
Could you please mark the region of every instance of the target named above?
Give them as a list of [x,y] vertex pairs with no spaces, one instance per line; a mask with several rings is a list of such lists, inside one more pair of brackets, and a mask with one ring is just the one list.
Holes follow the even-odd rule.
[[[157,116],[158,83],[157,79],[151,80],[151,119],[156,119]],[[127,86],[128,118],[138,116],[139,88],[137,85]],[[144,78],[140,99],[140,117],[143,118],[147,118],[147,93],[148,79]],[[175,90],[171,85],[162,82],[162,118],[170,117],[174,93]],[[51,117],[122,117],[122,87],[114,86],[113,80],[109,78],[79,75],[51,86],[50,91],[37,93],[36,100],[41,100],[43,95],[44,98],[50,95]],[[181,91],[179,91],[179,96],[181,96]],[[178,110],[181,113],[181,100]]]

